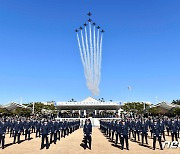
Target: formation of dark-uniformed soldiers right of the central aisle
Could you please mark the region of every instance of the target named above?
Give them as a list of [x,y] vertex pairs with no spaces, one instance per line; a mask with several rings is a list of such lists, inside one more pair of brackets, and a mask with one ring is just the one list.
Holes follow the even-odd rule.
[[[171,135],[172,141],[178,141],[180,133],[180,119],[170,118],[141,118],[141,119],[120,119],[120,120],[100,120],[101,131],[114,142],[118,144],[120,140],[121,149],[124,149],[124,143],[126,143],[126,149],[129,150],[129,139],[134,141],[140,141],[141,144],[148,145],[148,132],[153,139],[153,150],[156,148],[156,141],[158,140],[160,149],[162,148],[162,141],[166,140],[165,132],[167,135]],[[163,139],[163,140],[162,140]],[[144,143],[145,140],[145,143]]]

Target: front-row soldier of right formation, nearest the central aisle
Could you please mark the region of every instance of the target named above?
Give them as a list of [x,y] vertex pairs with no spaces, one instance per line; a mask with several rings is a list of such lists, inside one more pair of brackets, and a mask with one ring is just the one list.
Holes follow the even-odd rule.
[[129,150],[128,125],[125,124],[125,121],[123,120],[121,125],[121,150],[124,149],[124,142],[126,142],[126,149]]

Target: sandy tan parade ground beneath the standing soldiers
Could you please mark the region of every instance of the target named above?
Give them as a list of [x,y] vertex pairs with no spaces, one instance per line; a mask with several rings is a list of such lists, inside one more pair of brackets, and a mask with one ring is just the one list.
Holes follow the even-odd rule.
[[[149,147],[143,147],[138,142],[129,141],[129,151],[120,149],[120,145],[115,146],[113,142],[110,142],[106,136],[104,136],[99,128],[93,128],[92,134],[92,150],[83,148],[83,132],[82,128],[78,129],[74,133],[70,134],[66,138],[61,138],[56,144],[51,144],[49,149],[40,150],[41,139],[35,138],[34,134],[31,134],[32,139],[30,141],[23,141],[24,136],[21,135],[22,142],[18,144],[12,144],[13,138],[9,138],[9,134],[6,135],[6,148],[0,149],[0,154],[83,154],[83,153],[94,153],[94,154],[117,154],[117,153],[128,153],[128,154],[178,154],[179,149],[168,149],[159,150],[159,144],[155,151],[152,150],[152,139],[148,139]],[[167,140],[171,140],[170,137],[166,136]]]

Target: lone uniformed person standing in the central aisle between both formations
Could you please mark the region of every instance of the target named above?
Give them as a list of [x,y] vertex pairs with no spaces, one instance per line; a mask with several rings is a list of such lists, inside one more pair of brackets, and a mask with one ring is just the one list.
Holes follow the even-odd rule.
[[85,147],[84,147],[84,149],[87,148],[87,140],[89,141],[89,149],[91,149],[92,125],[91,125],[90,119],[88,119],[88,120],[85,122],[85,125],[84,125],[84,128],[83,128],[83,132],[84,132],[84,137],[85,137]]

